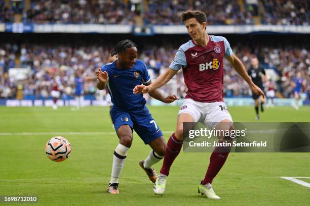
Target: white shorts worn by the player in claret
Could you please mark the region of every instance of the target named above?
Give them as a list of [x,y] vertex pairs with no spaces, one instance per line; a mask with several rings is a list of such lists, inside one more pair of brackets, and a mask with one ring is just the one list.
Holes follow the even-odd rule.
[[190,114],[195,122],[201,122],[204,125],[215,128],[218,122],[222,120],[230,120],[232,118],[227,110],[225,102],[199,102],[190,98],[184,99],[180,107],[179,114]]

